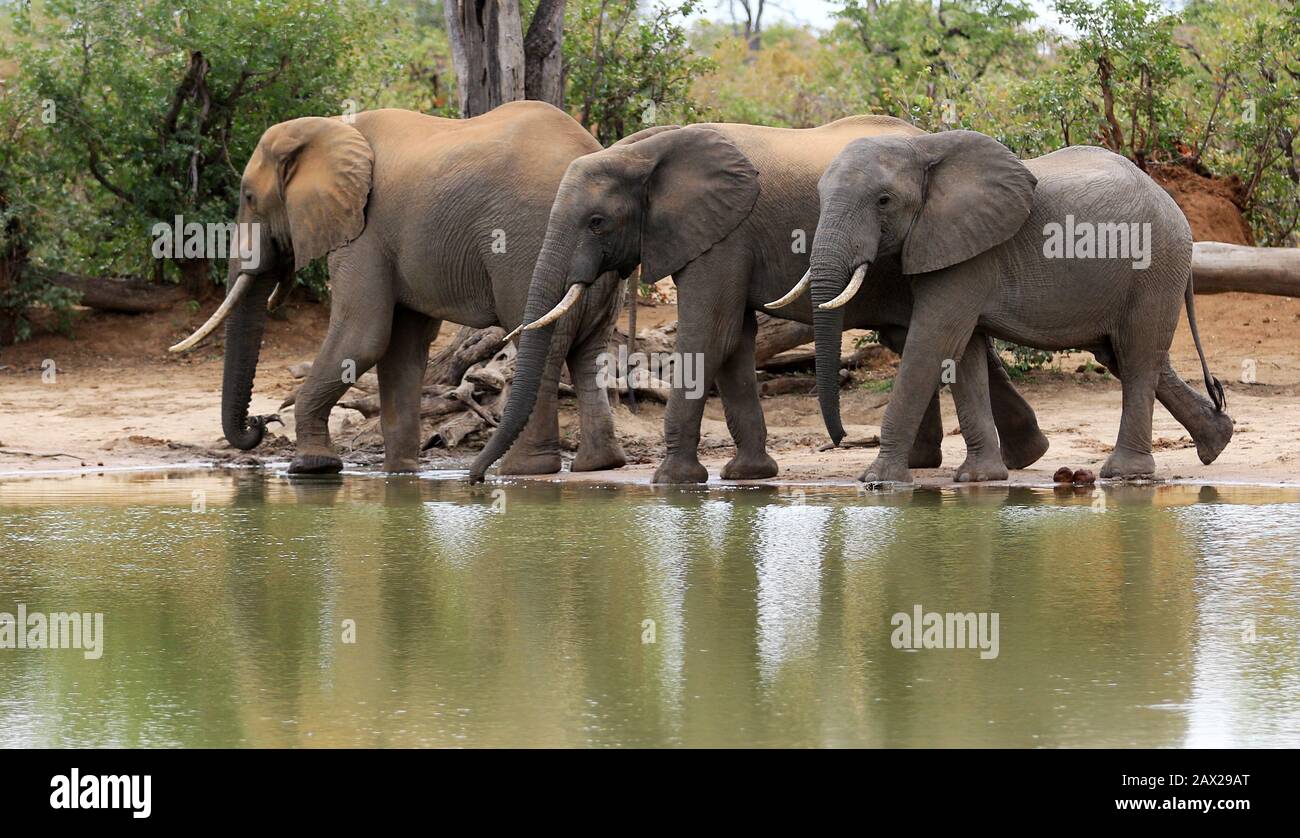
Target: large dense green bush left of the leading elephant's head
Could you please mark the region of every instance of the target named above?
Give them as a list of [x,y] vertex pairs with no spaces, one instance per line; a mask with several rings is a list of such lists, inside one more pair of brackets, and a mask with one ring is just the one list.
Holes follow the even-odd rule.
[[[261,131],[360,109],[381,18],[358,0],[49,0],[20,8],[17,96],[52,109],[46,153],[62,178],[48,247],[86,273],[151,275],[150,229],[222,222]],[[355,103],[355,104],[352,104]]]

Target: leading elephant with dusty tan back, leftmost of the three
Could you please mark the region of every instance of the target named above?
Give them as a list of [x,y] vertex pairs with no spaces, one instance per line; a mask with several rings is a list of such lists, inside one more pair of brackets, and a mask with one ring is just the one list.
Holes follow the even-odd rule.
[[[599,148],[571,117],[538,101],[472,120],[384,109],[268,129],[244,169],[238,216],[256,225],[260,261],[246,266],[231,259],[225,301],[172,347],[185,351],[226,320],[221,422],[230,444],[254,448],[265,431],[268,417],[248,416],[248,404],[268,298],[277,285],[289,286],[294,270],[328,253],[329,331],[296,396],[289,470],[343,466],[330,444],[329,412],[352,375],[374,365],[385,468],[413,470],[421,379],[438,326],[520,321],[560,178],[575,159]],[[606,272],[593,279],[593,294],[538,359],[541,401],[502,466],[506,473],[560,469],[555,399],[566,361],[581,412],[573,468],[625,461],[606,392],[595,386],[595,359],[618,314],[621,283]]]

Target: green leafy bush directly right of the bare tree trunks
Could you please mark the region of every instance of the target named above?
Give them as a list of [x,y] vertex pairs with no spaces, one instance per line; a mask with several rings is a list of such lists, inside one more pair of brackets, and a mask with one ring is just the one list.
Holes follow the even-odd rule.
[[659,3],[642,17],[637,0],[569,0],[566,99],[602,144],[651,125],[697,121],[690,84],[712,62],[690,53],[677,18],[699,1]]

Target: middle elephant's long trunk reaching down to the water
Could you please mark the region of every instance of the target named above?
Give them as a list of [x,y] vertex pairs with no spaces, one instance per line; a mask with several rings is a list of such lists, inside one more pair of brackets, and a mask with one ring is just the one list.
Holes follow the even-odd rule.
[[[528,305],[524,309],[524,324],[536,324],[551,312],[567,290],[569,265],[573,256],[576,236],[560,235],[555,229],[547,230],[542,251],[537,257],[537,268],[528,288]],[[526,329],[519,338],[519,353],[515,359],[515,381],[510,387],[510,399],[502,411],[500,422],[491,439],[474,457],[469,466],[469,481],[480,483],[493,463],[499,460],[515,444],[519,434],[533,413],[537,392],[546,372],[546,360],[551,349],[551,336],[555,324],[550,322],[534,329]]]

